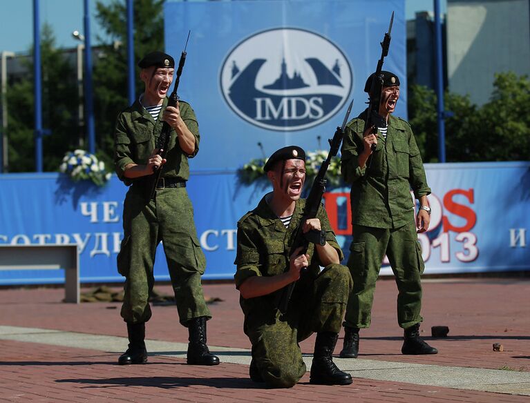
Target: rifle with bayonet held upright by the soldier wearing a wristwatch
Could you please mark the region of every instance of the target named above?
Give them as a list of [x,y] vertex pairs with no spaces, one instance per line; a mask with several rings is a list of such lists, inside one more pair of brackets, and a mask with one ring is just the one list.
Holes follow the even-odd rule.
[[[394,12],[392,11],[392,17],[390,17],[390,26],[388,32],[381,43],[381,59],[377,61],[377,68],[375,69],[374,76],[372,78],[372,86],[370,86],[370,102],[368,102],[368,110],[366,114],[366,121],[364,122],[364,128],[372,128],[372,133],[377,133],[377,128],[386,128],[386,119],[379,115],[379,104],[381,104],[381,90],[383,90],[383,75],[381,70],[383,68],[383,61],[388,55],[388,48],[390,48],[390,31],[392,30],[392,22],[394,22]],[[372,144],[371,150],[375,150],[376,145]],[[370,159],[371,162],[371,159]]]

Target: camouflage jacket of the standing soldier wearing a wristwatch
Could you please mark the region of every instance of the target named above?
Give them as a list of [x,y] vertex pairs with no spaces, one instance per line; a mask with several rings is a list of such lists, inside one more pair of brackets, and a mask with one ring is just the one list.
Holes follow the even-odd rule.
[[358,157],[363,150],[365,112],[348,122],[341,148],[341,172],[352,185],[352,224],[399,228],[414,219],[414,200],[430,194],[419,148],[408,122],[390,115],[386,139],[379,135],[377,148],[364,168]]

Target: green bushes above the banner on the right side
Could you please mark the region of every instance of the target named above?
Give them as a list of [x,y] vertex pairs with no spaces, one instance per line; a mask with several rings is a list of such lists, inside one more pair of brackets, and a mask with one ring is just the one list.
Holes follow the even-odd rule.
[[[530,155],[530,81],[498,73],[493,94],[482,107],[469,97],[447,92],[446,161],[522,161]],[[437,162],[436,95],[424,86],[409,90],[408,111],[425,162]]]

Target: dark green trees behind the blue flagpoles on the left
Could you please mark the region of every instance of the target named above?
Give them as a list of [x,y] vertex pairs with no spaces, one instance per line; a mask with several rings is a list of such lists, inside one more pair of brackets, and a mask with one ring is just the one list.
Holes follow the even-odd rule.
[[[164,50],[163,0],[135,0],[135,60],[151,50]],[[127,94],[126,8],[122,0],[96,4],[97,20],[108,44],[93,49],[93,90],[96,155],[105,164],[113,164],[113,131],[117,114],[129,105]],[[102,38],[99,38],[102,41]],[[77,123],[77,66],[55,46],[50,26],[41,31],[42,115],[44,170],[59,169],[68,151],[86,147],[86,129]],[[32,50],[30,50],[32,55]],[[26,63],[28,74],[8,88],[8,137],[10,172],[35,170],[33,63]],[[143,83],[135,71],[136,92]]]

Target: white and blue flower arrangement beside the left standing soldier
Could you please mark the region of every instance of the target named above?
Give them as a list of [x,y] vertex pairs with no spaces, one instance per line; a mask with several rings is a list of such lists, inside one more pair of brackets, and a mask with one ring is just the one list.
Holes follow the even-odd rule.
[[111,173],[106,172],[104,162],[85,150],[68,151],[59,166],[59,171],[70,175],[75,182],[91,180],[97,186],[104,186],[111,179]]

